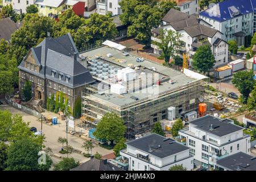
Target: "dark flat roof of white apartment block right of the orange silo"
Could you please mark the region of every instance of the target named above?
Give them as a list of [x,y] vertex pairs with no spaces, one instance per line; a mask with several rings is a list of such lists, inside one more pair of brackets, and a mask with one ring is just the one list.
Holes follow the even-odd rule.
[[[212,115],[197,118],[189,123],[195,125],[197,129],[217,135],[218,137],[243,130],[243,127],[234,125],[232,123],[223,122],[221,119],[215,118]],[[213,125],[213,130],[210,130],[210,125]]]

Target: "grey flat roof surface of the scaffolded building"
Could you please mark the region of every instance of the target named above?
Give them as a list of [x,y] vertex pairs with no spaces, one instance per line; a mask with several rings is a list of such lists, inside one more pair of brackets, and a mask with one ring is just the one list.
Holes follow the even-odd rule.
[[[112,54],[112,57],[106,56],[108,53]],[[142,61],[141,63],[137,62],[137,57],[134,55],[128,55],[125,56],[122,54],[121,51],[118,51],[117,49],[110,48],[108,46],[103,46],[97,49],[92,49],[88,52],[81,53],[80,56],[87,57],[88,59],[96,59],[96,57],[100,56],[101,60],[108,61],[110,64],[115,64],[117,67],[120,68],[126,68],[129,67],[130,64],[133,64],[134,67],[141,66],[144,68],[144,70],[139,70],[137,72],[146,72],[146,73],[152,73],[154,74],[159,74],[159,77],[165,76],[168,79],[170,78],[173,82],[162,82],[160,85],[155,85],[155,86],[147,86],[147,88],[142,88],[141,90],[134,90],[135,92],[130,92],[126,94],[115,94],[115,93],[110,93],[110,89],[103,91],[105,94],[92,94],[88,96],[89,98],[93,100],[104,100],[108,103],[112,103],[117,106],[123,106],[123,105],[128,105],[131,104],[131,102],[134,102],[135,100],[133,98],[130,98],[131,96],[137,97],[141,101],[143,99],[148,99],[148,97],[155,96],[156,94],[160,94],[163,92],[167,92],[170,90],[175,90],[176,88],[180,88],[183,85],[185,86],[186,84],[189,84],[191,82],[200,80],[197,78],[193,78],[193,76],[187,76],[184,73],[180,71],[176,71],[175,69],[165,67],[163,65],[145,60]],[[120,61],[120,60],[125,60],[125,61]],[[154,71],[151,69],[154,68]],[[160,78],[159,78],[160,79]],[[138,81],[135,80],[135,82]],[[131,83],[133,81],[130,81]],[[130,84],[129,84],[130,85]],[[135,88],[136,89],[136,88]],[[156,90],[156,92],[148,92],[148,91]]]

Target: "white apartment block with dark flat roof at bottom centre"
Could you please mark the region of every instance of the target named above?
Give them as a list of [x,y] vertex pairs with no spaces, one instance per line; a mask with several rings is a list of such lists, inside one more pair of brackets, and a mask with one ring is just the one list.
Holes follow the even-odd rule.
[[193,169],[189,148],[170,138],[150,134],[126,142],[126,145],[120,155],[128,161],[129,171],[168,171],[170,167],[180,164],[188,171]]

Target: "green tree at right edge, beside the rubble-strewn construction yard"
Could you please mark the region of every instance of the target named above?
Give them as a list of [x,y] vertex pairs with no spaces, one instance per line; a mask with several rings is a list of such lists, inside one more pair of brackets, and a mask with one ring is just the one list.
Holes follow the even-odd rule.
[[236,88],[242,94],[242,101],[244,104],[247,103],[249,94],[254,88],[255,80],[253,77],[253,71],[240,71],[235,73],[234,77],[232,78],[232,84],[234,84],[234,86],[236,86]]

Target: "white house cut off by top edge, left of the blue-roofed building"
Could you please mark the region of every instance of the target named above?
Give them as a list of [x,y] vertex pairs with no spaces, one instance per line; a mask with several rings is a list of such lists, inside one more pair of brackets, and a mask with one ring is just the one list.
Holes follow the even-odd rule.
[[176,3],[182,13],[189,15],[199,13],[199,0],[176,0]]

